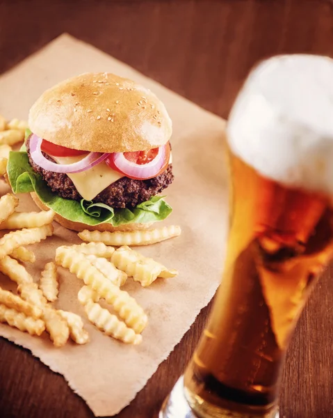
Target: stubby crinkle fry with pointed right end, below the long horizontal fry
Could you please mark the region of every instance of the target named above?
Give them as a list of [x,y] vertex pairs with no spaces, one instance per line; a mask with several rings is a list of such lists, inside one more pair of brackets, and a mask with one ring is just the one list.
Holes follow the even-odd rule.
[[127,246],[116,249],[111,261],[116,268],[126,272],[128,276],[133,277],[133,280],[138,281],[143,287],[152,284],[157,277],[168,279],[178,274],[177,270],[168,270],[161,263],[154,261],[152,258],[147,258]]

